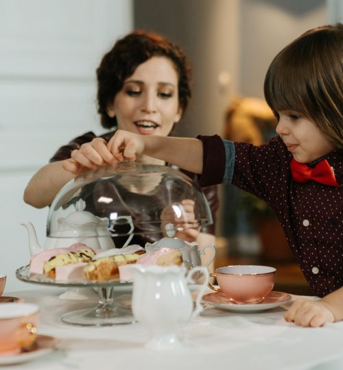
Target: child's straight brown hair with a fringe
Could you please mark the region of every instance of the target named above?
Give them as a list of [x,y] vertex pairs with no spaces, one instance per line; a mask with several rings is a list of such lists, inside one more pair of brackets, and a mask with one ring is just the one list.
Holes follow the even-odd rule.
[[314,122],[343,150],[343,25],[310,29],[285,47],[265,76],[265,100]]

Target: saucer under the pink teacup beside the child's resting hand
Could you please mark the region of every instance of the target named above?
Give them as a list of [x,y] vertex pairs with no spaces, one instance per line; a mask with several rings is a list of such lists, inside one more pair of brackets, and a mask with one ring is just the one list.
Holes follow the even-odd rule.
[[202,297],[207,304],[233,312],[259,312],[279,307],[292,299],[291,295],[282,292],[271,291],[264,301],[259,304],[235,304],[226,295],[220,292],[209,293]]

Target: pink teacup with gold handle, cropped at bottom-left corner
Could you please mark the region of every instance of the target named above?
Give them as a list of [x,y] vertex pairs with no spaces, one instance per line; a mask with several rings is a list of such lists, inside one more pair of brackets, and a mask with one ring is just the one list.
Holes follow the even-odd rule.
[[0,356],[17,354],[34,343],[38,317],[36,304],[0,304]]

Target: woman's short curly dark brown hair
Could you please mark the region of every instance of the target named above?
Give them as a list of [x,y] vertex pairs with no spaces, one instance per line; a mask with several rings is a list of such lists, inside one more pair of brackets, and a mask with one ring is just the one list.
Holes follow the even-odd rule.
[[182,112],[185,112],[191,97],[191,67],[187,56],[167,38],[137,30],[117,40],[97,69],[97,111],[103,127],[117,127],[116,117],[111,118],[107,114],[108,104],[113,102],[137,66],[153,56],[164,56],[173,62],[178,73],[178,100]]

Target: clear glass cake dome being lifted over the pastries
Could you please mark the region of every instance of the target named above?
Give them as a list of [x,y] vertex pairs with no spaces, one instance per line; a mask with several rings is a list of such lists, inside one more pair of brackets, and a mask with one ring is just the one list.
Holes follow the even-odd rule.
[[177,232],[212,222],[204,193],[184,173],[121,162],[68,182],[49,209],[47,236],[100,249],[144,247],[163,238],[166,226]]

